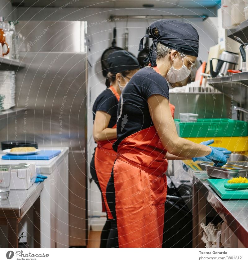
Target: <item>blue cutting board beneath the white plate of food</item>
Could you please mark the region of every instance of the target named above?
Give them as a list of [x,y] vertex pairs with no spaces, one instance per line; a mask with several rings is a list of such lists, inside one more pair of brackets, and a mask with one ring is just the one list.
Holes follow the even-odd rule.
[[2,159],[7,160],[50,160],[60,154],[60,150],[42,150],[36,154],[12,155],[6,154]]

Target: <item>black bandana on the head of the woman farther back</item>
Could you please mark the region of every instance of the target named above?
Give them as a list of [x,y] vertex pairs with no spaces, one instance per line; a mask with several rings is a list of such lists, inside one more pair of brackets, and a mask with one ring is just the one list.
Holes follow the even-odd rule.
[[139,68],[138,60],[126,50],[114,51],[108,56],[107,61],[109,65],[108,71],[114,74]]

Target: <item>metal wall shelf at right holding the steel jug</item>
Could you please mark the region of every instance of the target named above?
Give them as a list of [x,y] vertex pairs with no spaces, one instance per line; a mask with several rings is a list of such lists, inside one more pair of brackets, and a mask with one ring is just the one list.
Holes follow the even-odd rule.
[[209,78],[207,83],[237,103],[246,103],[248,72],[235,73],[225,77]]

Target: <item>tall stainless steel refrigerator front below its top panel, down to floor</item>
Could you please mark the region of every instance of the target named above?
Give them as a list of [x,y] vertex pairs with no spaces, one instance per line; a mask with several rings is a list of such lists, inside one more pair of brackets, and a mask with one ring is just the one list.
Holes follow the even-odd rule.
[[[38,147],[69,147],[69,245],[86,246],[86,53],[21,52],[16,105],[1,141],[35,140]],[[16,123],[15,123],[16,122]],[[78,194],[80,193],[80,194]]]

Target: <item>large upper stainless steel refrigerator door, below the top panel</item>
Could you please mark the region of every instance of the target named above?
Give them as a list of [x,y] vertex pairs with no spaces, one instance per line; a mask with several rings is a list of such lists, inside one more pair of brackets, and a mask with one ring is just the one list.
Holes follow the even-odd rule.
[[[86,54],[21,52],[27,67],[16,76],[17,138],[39,146],[85,151]],[[13,132],[9,139],[13,139]]]

